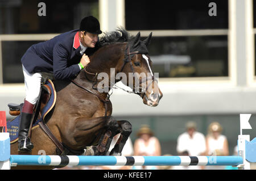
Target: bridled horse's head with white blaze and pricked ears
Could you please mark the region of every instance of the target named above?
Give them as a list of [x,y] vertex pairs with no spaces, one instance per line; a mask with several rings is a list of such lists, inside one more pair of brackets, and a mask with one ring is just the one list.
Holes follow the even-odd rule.
[[139,32],[132,41],[129,41],[125,49],[125,58],[119,64],[122,82],[133,89],[148,106],[158,106],[163,94],[158,87],[158,74],[152,72],[152,61],[148,55],[147,46],[150,44],[152,33],[144,40],[141,40]]

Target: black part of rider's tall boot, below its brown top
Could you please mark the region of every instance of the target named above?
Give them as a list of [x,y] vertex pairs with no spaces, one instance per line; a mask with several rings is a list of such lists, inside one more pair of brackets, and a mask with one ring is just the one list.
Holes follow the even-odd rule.
[[27,137],[28,129],[30,128],[30,123],[32,119],[32,113],[22,112],[20,113],[20,122],[19,122],[19,141],[18,148],[19,151],[31,151],[34,148],[29,137]]

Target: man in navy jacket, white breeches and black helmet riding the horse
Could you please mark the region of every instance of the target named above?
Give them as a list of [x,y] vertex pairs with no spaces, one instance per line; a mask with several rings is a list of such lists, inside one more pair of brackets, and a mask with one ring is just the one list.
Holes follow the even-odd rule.
[[65,32],[51,40],[34,44],[23,55],[21,62],[26,98],[20,114],[19,150],[30,151],[34,147],[27,135],[42,78],[47,74],[53,75],[55,79],[75,77],[89,64],[85,50],[95,47],[100,33],[98,20],[87,16],[81,20],[79,30]]

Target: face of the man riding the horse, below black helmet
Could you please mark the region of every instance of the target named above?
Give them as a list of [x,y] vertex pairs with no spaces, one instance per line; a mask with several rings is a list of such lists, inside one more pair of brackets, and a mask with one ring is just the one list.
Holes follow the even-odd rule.
[[97,34],[85,32],[85,31],[80,31],[79,37],[80,37],[81,44],[89,48],[94,48],[95,44],[98,41]]

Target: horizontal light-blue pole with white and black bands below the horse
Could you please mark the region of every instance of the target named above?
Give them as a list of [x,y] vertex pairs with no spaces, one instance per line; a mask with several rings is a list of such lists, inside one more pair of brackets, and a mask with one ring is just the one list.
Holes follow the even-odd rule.
[[232,165],[243,163],[239,156],[76,156],[11,155],[11,164],[37,166],[65,165]]

